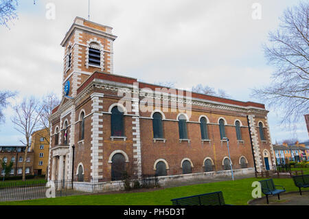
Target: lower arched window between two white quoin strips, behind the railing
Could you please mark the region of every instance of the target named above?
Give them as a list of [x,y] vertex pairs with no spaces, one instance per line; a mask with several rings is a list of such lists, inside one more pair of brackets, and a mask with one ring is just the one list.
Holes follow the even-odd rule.
[[112,181],[122,180],[126,172],[125,157],[123,154],[117,153],[112,157],[111,178]]

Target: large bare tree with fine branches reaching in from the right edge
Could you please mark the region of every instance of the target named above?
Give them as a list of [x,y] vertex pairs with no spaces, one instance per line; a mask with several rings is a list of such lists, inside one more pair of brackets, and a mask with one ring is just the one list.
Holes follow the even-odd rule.
[[252,97],[284,113],[281,124],[296,128],[309,112],[309,3],[288,8],[276,32],[268,34],[264,54],[275,67],[269,86],[253,89]]

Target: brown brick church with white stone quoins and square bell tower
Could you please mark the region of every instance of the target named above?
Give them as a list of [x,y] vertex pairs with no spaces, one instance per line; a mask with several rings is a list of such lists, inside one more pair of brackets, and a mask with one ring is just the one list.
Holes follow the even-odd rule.
[[[113,73],[112,28],[76,17],[62,101],[52,112],[48,177],[117,181],[273,170],[264,104],[139,82]],[[229,152],[227,144],[229,143]],[[209,175],[210,174],[210,175]]]

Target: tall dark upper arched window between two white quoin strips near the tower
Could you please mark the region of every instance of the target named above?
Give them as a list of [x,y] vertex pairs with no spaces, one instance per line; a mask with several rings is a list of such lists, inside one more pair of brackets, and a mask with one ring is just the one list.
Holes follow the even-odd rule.
[[111,113],[111,136],[124,136],[124,113],[118,106],[114,106]]

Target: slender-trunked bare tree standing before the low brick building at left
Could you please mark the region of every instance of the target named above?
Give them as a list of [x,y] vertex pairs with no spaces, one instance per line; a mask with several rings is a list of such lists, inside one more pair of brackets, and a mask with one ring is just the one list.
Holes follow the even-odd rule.
[[23,181],[25,181],[25,162],[27,159],[27,151],[30,147],[30,137],[32,132],[38,129],[38,123],[41,119],[40,102],[34,97],[29,99],[25,98],[21,104],[16,104],[13,107],[14,117],[12,117],[12,123],[15,125],[15,129],[23,134],[25,141],[21,141],[25,145],[25,154],[23,159]]

